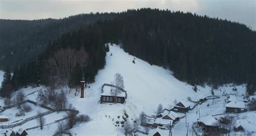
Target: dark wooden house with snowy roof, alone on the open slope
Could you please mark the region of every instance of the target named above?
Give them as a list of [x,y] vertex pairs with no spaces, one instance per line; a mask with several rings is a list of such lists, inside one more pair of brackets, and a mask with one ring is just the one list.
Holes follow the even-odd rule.
[[100,94],[100,103],[121,103],[125,102],[126,91],[120,87],[104,84]]

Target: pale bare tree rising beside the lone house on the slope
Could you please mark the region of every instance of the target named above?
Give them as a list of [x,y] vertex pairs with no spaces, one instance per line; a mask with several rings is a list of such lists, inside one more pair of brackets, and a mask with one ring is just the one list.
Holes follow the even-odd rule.
[[[124,79],[122,77],[122,75],[120,73],[116,73],[114,74],[114,80],[112,81],[112,84],[117,86],[117,87],[120,87],[122,89],[124,89]],[[119,89],[115,88],[115,87],[112,87],[111,89],[111,93],[113,96],[117,96],[117,94],[119,93]]]

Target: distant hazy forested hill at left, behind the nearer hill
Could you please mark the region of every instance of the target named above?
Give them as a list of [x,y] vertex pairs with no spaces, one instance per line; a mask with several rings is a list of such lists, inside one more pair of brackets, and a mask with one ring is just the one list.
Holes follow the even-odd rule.
[[44,51],[46,45],[64,33],[78,30],[116,13],[90,13],[63,19],[33,21],[0,19],[0,69],[14,68]]

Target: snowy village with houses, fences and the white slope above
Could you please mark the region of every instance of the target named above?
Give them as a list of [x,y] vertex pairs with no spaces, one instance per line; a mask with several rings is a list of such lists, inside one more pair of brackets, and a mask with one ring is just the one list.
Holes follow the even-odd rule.
[[[218,89],[208,85],[188,85],[170,76],[171,71],[127,55],[117,45],[110,46],[110,50],[106,67],[99,71],[95,83],[81,81],[78,91],[73,92],[66,88],[58,90],[64,90],[69,103],[76,107],[75,114],[86,114],[91,118],[76,124],[65,134],[256,134],[256,112],[249,108],[256,98],[246,97],[244,84],[227,84]],[[126,60],[124,66],[120,65],[120,60]],[[145,70],[151,75],[133,78]],[[24,116],[15,116],[18,112],[16,105],[1,107],[1,134],[52,135],[59,123],[68,119],[65,114],[69,108],[57,109],[38,104],[37,97],[41,90],[47,88],[27,87],[14,93],[13,97],[19,92],[25,93],[23,103],[33,109]],[[2,99],[0,102],[4,105]],[[46,121],[43,130],[37,123],[41,115]]]

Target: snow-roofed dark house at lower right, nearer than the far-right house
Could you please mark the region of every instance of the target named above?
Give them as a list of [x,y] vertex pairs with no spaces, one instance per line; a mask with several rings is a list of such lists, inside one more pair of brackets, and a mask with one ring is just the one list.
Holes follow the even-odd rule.
[[201,126],[202,130],[205,132],[215,132],[219,131],[220,124],[218,120],[212,117],[212,115],[208,115],[206,117],[198,119],[198,125]]

